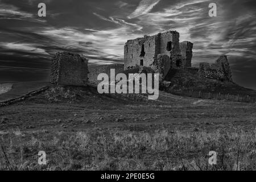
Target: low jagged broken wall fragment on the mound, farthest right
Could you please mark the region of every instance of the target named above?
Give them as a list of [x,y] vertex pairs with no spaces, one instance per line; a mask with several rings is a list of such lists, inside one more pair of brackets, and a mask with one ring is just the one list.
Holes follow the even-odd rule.
[[199,76],[220,81],[232,81],[232,71],[226,56],[220,56],[214,64],[200,63]]

